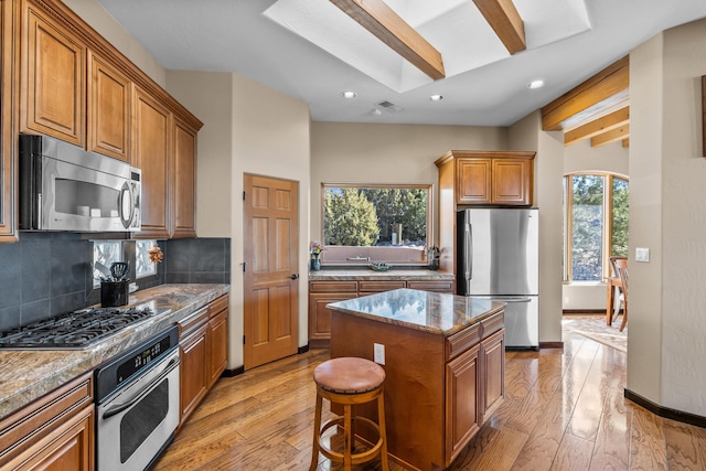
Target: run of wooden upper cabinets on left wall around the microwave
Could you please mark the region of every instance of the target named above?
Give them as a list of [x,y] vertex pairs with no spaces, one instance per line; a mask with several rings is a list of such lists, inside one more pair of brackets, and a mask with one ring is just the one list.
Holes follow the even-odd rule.
[[[203,124],[62,1],[0,1],[0,162],[15,164],[18,131],[53,136],[122,160],[142,171],[142,231],[133,236],[195,237],[196,135]],[[13,18],[21,21],[19,34],[13,34]],[[19,101],[13,64],[20,66]],[[13,126],[17,113],[19,126]],[[8,147],[11,152],[4,151]],[[13,235],[17,190],[12,168],[0,170],[2,237],[6,221]]]

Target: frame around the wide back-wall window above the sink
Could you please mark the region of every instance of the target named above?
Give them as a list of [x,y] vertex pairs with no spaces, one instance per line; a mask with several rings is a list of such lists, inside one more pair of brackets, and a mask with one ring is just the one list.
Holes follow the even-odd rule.
[[[371,259],[365,261],[351,261],[351,260],[336,260],[336,261],[325,261],[325,238],[324,238],[324,227],[325,227],[325,191],[328,188],[353,188],[353,189],[393,189],[393,190],[425,190],[427,192],[427,215],[426,215],[426,242],[422,247],[421,260],[419,263],[416,261],[394,261],[394,260],[381,260],[381,259]],[[321,240],[324,244],[324,253],[321,258],[322,266],[367,266],[372,261],[386,261],[391,265],[395,266],[404,266],[404,267],[419,267],[426,266],[427,263],[427,253],[428,249],[432,246],[434,238],[434,225],[432,225],[432,212],[434,212],[434,184],[431,183],[325,183],[321,182],[320,188],[320,228],[318,240]],[[344,246],[338,246],[344,247]],[[376,246],[371,246],[376,247]]]

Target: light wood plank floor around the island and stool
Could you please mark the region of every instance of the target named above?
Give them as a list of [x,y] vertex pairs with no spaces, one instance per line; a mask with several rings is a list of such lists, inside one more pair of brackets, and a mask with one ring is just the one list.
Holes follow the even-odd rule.
[[[706,470],[706,429],[627,400],[625,354],[564,335],[564,351],[506,353],[505,402],[451,470]],[[307,470],[311,374],[328,355],[314,350],[220,379],[154,469]],[[320,471],[334,469],[320,457]]]

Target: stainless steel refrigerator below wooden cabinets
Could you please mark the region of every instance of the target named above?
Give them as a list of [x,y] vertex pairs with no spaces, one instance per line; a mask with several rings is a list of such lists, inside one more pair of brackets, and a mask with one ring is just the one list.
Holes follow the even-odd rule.
[[472,208],[458,213],[458,293],[505,308],[505,346],[539,347],[537,208]]

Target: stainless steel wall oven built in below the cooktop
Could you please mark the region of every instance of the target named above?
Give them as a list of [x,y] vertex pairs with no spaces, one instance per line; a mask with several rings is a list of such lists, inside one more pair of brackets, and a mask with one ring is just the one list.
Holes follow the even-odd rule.
[[96,370],[98,471],[150,468],[179,425],[179,330]]

